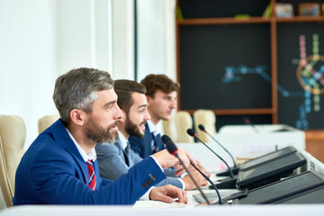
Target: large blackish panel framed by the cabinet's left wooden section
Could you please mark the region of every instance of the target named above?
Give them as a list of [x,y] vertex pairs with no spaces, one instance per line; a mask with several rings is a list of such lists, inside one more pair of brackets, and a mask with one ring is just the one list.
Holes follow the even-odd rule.
[[240,81],[222,80],[226,67],[264,66],[270,76],[268,23],[185,25],[179,31],[181,109],[271,107],[271,83],[264,77],[238,74]]

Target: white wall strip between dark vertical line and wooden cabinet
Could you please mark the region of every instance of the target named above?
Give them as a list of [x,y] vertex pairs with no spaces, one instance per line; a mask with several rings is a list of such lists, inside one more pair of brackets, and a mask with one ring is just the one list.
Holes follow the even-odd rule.
[[138,80],[166,74],[175,80],[175,0],[138,0]]

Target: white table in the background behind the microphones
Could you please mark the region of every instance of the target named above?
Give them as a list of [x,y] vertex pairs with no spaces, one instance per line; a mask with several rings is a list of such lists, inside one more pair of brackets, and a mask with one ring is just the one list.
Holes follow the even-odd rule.
[[[231,125],[220,129],[214,138],[227,148],[234,158],[253,158],[274,151],[275,148],[293,146],[305,149],[305,132],[287,125],[257,125],[256,132],[250,125]],[[286,129],[288,131],[276,131]],[[205,143],[229,166],[233,166],[231,157],[215,142]],[[199,159],[208,170],[226,169],[224,163],[202,143],[176,143]]]

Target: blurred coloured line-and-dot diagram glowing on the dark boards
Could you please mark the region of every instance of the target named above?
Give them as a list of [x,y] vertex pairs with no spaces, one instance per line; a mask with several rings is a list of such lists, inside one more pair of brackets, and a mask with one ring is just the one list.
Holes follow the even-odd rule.
[[[295,127],[301,130],[309,129],[307,114],[310,112],[320,112],[320,94],[324,93],[324,57],[320,56],[319,35],[312,35],[312,55],[306,54],[306,38],[300,35],[300,58],[296,61],[297,80],[304,91],[287,91],[282,85],[277,85],[278,93],[284,97],[302,97],[303,102],[299,105],[299,118],[295,121]],[[266,71],[266,66],[257,65],[255,67],[238,66],[225,67],[225,75],[222,82],[229,84],[241,81],[241,76],[257,74],[262,76],[266,82],[271,83],[271,76]]]

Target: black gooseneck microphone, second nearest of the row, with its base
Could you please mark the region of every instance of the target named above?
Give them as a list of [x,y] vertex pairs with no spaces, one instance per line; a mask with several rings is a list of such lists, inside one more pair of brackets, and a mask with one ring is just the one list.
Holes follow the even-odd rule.
[[232,170],[231,170],[231,168],[229,167],[229,164],[228,163],[226,163],[226,161],[222,158],[222,157],[220,157],[216,152],[214,152],[209,146],[207,146],[206,145],[206,143],[204,143],[203,141],[202,141],[202,139],[199,139],[198,137],[197,137],[197,134],[194,132],[194,130],[192,130],[192,129],[188,129],[187,130],[187,133],[190,135],[190,136],[192,136],[194,139],[197,139],[198,141],[200,141],[206,148],[208,148],[208,149],[210,149],[211,150],[211,152],[215,155],[215,156],[217,156],[217,157],[219,157],[220,158],[220,160],[222,161],[222,162],[224,162],[224,164],[228,167],[228,169],[229,169],[229,178],[224,178],[224,179],[221,179],[220,180],[220,183],[219,184],[216,184],[217,185],[217,188],[221,188],[221,189],[225,189],[225,188],[236,188],[236,181],[237,181],[237,178],[233,175],[233,172],[232,172]]

